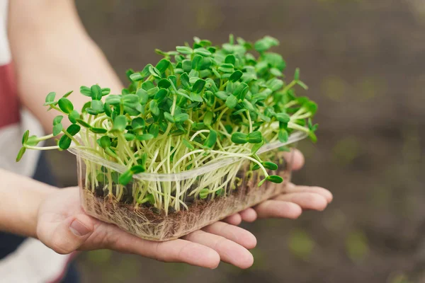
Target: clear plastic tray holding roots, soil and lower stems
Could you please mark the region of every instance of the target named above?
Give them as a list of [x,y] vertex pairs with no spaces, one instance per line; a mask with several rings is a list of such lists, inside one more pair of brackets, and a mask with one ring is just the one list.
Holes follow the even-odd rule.
[[[266,181],[261,187],[257,184],[263,178],[262,171],[251,171],[251,161],[245,158],[223,158],[182,173],[140,173],[123,186],[117,178],[126,171],[124,166],[89,151],[69,151],[77,156],[81,205],[87,214],[140,238],[167,241],[284,192],[290,182],[292,158],[283,158],[284,148],[294,147],[305,137],[306,134],[295,132],[285,144],[277,141],[259,149],[258,154],[264,161],[278,164],[276,171],[268,173],[283,178],[283,183]],[[204,199],[198,193],[201,187],[211,192]],[[163,193],[169,197],[154,204],[134,200],[133,195],[148,193]]]

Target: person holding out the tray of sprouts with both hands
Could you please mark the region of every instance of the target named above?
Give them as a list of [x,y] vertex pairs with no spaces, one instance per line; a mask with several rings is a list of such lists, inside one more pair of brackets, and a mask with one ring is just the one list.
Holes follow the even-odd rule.
[[[51,131],[56,114],[42,106],[45,95],[94,83],[115,92],[123,87],[84,30],[74,1],[0,0],[2,282],[77,282],[73,270],[65,271],[75,251],[101,248],[164,262],[215,268],[221,260],[247,268],[253,263],[249,249],[256,246],[256,238],[238,226],[241,221],[295,219],[302,209],[322,210],[332,200],[331,193],[321,187],[290,184],[284,195],[183,238],[160,243],[98,221],[81,209],[77,187],[59,190],[53,185],[44,157],[37,151],[15,162],[24,129],[29,127],[32,134]],[[82,96],[72,101],[76,108],[85,102]],[[300,169],[303,163],[302,154],[295,151],[293,168]]]

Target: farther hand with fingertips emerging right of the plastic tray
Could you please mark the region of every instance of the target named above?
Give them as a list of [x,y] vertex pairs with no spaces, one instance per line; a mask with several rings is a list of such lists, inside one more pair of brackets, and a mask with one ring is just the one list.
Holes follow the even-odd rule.
[[[290,157],[290,154],[287,155]],[[298,150],[293,152],[293,170],[304,166],[304,156]],[[284,193],[273,197],[271,200],[261,202],[242,212],[227,217],[224,221],[229,224],[239,225],[242,221],[253,222],[257,218],[289,218],[297,219],[302,210],[322,211],[332,201],[332,194],[322,187],[298,186],[288,184]]]

